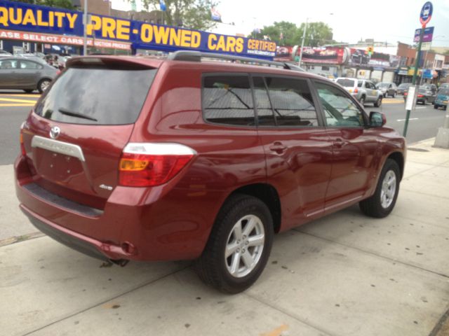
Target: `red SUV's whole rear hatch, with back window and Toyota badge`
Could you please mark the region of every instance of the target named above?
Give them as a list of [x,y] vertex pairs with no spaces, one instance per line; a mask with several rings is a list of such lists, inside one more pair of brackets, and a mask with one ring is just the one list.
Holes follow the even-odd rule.
[[102,209],[157,69],[100,57],[68,65],[23,127],[27,162],[40,188]]

